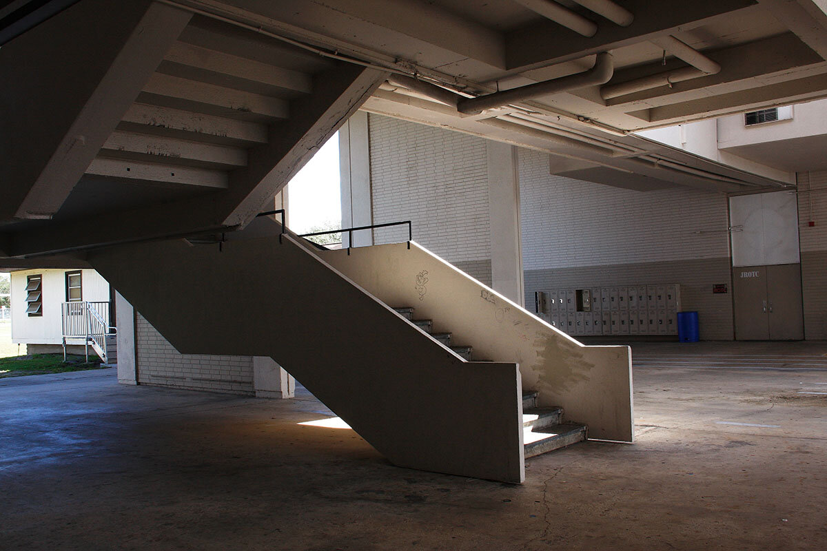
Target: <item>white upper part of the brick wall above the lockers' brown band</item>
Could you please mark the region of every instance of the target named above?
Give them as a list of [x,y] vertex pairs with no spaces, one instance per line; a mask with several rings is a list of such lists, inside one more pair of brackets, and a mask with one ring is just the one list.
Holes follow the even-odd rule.
[[532,150],[519,151],[519,178],[526,270],[729,257],[723,194],[581,182]]

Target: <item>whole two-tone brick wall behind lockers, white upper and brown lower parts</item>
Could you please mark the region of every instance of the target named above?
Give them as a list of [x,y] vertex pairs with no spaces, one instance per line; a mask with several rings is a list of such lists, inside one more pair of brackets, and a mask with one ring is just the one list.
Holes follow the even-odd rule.
[[[705,340],[733,338],[727,199],[689,188],[637,192],[548,172],[519,151],[526,304],[535,291],[679,283]],[[731,284],[730,284],[731,287]]]

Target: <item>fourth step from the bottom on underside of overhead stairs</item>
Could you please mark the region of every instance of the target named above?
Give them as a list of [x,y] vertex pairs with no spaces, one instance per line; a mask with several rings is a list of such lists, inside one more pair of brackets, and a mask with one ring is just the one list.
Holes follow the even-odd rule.
[[244,92],[189,78],[155,73],[147,81],[138,102],[173,107],[207,115],[263,121],[289,117],[289,103],[279,97]]

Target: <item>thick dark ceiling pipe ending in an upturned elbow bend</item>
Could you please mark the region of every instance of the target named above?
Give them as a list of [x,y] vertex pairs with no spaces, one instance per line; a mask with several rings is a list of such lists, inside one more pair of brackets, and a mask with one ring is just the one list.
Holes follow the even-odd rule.
[[532,97],[546,96],[552,93],[569,92],[578,88],[586,88],[609,82],[614,74],[614,62],[608,52],[600,52],[595,59],[595,65],[582,73],[570,74],[566,77],[545,80],[542,83],[528,84],[519,88],[511,88],[503,92],[495,92],[480,97],[467,97],[457,103],[457,110],[466,115],[476,115],[502,107],[513,102],[522,102]]

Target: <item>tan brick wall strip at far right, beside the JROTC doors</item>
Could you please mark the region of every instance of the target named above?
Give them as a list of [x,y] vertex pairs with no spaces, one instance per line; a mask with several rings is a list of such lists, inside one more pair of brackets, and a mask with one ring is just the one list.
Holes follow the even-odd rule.
[[[827,339],[827,171],[798,173],[801,286],[807,340]],[[815,223],[810,226],[810,221]]]

